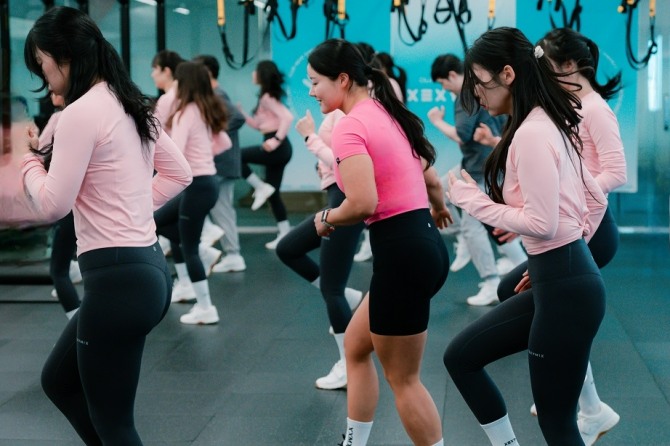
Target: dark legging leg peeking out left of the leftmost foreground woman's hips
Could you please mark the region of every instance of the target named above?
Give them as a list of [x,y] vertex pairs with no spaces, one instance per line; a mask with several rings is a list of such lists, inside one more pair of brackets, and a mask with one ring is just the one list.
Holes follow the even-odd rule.
[[58,301],[68,312],[79,308],[79,294],[70,279],[70,262],[77,250],[72,212],[53,225],[49,275],[58,294]]

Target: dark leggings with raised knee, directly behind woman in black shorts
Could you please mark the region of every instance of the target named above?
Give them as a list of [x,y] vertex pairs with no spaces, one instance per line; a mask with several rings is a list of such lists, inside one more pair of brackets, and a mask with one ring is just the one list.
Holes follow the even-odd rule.
[[[329,208],[339,206],[344,194],[336,184],[326,189]],[[351,320],[351,308],[344,298],[356,245],[365,225],[338,226],[328,238],[319,237],[314,227],[314,215],[305,218],[291,229],[277,245],[277,256],[289,268],[308,282],[320,277],[321,295],[326,302],[328,319],[335,333],[344,333]],[[307,255],[321,248],[317,264]],[[319,267],[319,265],[321,265]]]

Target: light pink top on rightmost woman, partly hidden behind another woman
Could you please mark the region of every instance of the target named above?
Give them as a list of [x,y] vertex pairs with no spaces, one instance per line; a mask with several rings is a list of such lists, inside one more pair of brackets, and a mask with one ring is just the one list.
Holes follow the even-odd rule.
[[619,122],[607,102],[595,91],[582,98],[579,137],[584,165],[607,195],[626,184],[626,157]]

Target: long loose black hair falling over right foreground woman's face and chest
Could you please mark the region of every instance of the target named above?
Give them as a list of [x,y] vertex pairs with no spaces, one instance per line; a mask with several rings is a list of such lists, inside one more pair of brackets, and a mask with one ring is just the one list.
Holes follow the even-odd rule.
[[[538,55],[539,56],[539,55]],[[579,98],[561,87],[557,73],[545,56],[536,57],[534,47],[516,28],[501,27],[485,32],[465,55],[461,104],[468,112],[479,106],[475,85],[480,83],[473,72],[479,65],[492,74],[491,82],[500,84],[500,72],[506,65],[516,75],[509,86],[512,95],[512,113],[507,120],[501,140],[486,159],[484,177],[491,198],[504,203],[502,183],[510,143],[521,123],[535,107],[541,107],[565,139],[580,156],[582,142],[578,125],[581,120],[576,109],[581,108]],[[568,148],[569,149],[569,148]],[[568,155],[572,151],[568,150]]]

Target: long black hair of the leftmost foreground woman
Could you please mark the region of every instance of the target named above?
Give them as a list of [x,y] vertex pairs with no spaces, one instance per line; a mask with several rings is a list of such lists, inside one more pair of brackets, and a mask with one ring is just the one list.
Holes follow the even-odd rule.
[[107,82],[124,111],[135,121],[142,146],[148,150],[160,128],[153,117],[153,103],[132,82],[118,53],[88,15],[75,8],[54,7],[38,18],[28,32],[23,56],[28,70],[42,79],[36,91],[43,91],[48,84],[37,61],[37,49],[53,57],[59,66],[70,64],[65,105],[79,99],[97,81]]

